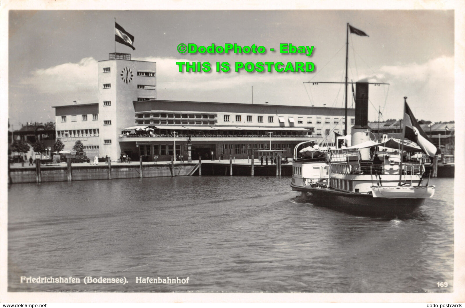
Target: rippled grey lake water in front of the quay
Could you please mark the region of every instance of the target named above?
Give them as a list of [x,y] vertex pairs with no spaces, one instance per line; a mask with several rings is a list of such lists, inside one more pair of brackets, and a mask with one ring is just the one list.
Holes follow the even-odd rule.
[[[452,292],[453,179],[408,219],[309,203],[283,177],[14,184],[9,291]],[[20,277],[81,283],[20,283]],[[84,284],[84,277],[120,278]],[[187,284],[136,277],[189,277]],[[437,282],[448,282],[438,288]]]

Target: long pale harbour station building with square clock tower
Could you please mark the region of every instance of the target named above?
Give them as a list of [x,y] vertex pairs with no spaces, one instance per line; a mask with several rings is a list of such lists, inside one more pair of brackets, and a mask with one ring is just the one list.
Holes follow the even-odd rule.
[[[133,160],[171,160],[174,154],[186,160],[190,136],[194,160],[277,151],[292,157],[299,142],[333,143],[333,132],[345,134],[343,108],[158,100],[156,63],[126,53],[110,53],[98,70],[98,102],[53,107],[65,150],[80,140],[89,157],[117,160],[124,152]],[[347,115],[354,124],[354,109]]]

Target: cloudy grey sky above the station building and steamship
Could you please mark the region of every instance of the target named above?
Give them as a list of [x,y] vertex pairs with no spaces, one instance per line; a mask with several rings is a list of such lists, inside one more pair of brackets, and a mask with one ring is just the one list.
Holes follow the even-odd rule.
[[[157,62],[157,98],[225,103],[343,107],[346,23],[349,81],[368,78],[369,120],[402,116],[403,97],[418,119],[454,120],[454,11],[18,11],[9,12],[8,118],[13,128],[54,120],[52,106],[97,103],[97,62],[113,52],[114,18],[135,51]],[[266,48],[264,54],[181,54],[180,43]],[[314,46],[312,56],[279,53],[279,44]],[[276,51],[270,51],[275,48]],[[210,62],[210,72],[179,72],[176,62]],[[313,72],[217,72],[216,62],[312,62]],[[311,81],[311,83],[306,83]],[[349,87],[349,91],[350,91]],[[349,92],[349,97],[351,96]],[[349,106],[352,104],[349,99]]]

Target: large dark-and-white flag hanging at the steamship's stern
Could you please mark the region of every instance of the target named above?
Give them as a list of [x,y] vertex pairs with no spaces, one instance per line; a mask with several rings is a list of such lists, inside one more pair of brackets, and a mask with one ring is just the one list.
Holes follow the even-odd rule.
[[420,127],[407,102],[404,103],[404,129],[405,138],[417,143],[428,156],[434,157],[438,153],[438,148]]

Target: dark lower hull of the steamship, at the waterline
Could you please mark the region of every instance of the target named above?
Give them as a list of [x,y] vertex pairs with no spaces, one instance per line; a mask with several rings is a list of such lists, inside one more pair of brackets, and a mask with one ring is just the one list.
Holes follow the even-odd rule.
[[362,216],[403,216],[414,212],[425,199],[373,198],[369,194],[349,193],[332,188],[301,187],[291,184],[292,190],[302,192],[299,201]]

